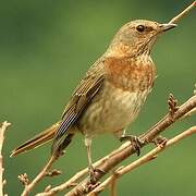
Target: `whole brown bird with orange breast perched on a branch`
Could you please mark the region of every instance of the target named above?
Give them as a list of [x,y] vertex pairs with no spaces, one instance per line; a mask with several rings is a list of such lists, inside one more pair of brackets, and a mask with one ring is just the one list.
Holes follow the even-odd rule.
[[[135,20],[114,35],[106,52],[88,69],[73,91],[61,119],[16,147],[11,157],[52,140],[51,154],[62,152],[76,133],[84,135],[89,176],[95,181],[91,140],[105,133],[138,144],[125,131],[151,91],[156,65],[150,57],[157,38],[176,24]],[[136,145],[136,147],[138,147]]]

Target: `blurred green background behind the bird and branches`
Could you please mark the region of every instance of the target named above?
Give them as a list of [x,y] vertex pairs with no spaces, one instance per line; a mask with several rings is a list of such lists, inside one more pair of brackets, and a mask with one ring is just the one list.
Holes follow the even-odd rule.
[[[1,0],[0,121],[12,123],[5,133],[3,149],[5,193],[21,194],[23,187],[17,175],[27,172],[33,179],[48,159],[50,144],[12,159],[10,151],[60,118],[73,88],[105,52],[114,33],[134,19],[168,22],[188,3],[191,1],[185,0]],[[194,11],[154,47],[158,78],[139,118],[132,125],[132,133],[136,135],[167,112],[169,93],[180,102],[193,94],[196,83]],[[195,122],[192,117],[175,123],[164,136],[175,135]],[[94,160],[119,145],[113,136],[97,137],[93,143]],[[143,152],[147,149],[149,147]],[[122,177],[118,183],[119,195],[195,195],[195,151],[196,137],[192,136]],[[133,159],[135,157],[123,163]],[[83,137],[77,135],[66,155],[54,164],[63,174],[44,180],[32,195],[48,184],[60,184],[86,166]],[[108,192],[101,195],[108,195]]]

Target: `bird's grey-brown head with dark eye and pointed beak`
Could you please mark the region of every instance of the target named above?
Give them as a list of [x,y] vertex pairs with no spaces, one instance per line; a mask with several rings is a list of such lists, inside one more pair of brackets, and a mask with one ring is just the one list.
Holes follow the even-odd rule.
[[115,34],[108,51],[122,56],[149,53],[157,37],[175,26],[176,24],[160,24],[146,20],[128,22]]

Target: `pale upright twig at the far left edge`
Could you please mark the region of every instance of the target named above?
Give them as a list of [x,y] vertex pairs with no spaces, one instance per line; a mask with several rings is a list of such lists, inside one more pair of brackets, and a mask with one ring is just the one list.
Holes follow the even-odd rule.
[[11,123],[4,121],[0,127],[0,195],[3,195],[3,185],[5,184],[5,181],[3,180],[3,164],[2,164],[2,146],[4,140],[4,132],[7,131],[8,126],[10,126]]

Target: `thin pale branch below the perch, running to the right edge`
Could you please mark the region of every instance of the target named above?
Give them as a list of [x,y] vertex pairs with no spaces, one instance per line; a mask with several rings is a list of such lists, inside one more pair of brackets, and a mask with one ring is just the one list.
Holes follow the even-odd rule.
[[196,126],[193,126],[183,133],[176,135],[175,137],[169,139],[168,142],[159,145],[155,149],[150,150],[148,154],[145,156],[140,157],[136,161],[130,163],[126,167],[121,167],[118,170],[115,170],[114,174],[109,176],[106,181],[103,181],[99,186],[97,186],[91,193],[89,193],[89,196],[93,196],[94,194],[98,194],[102,192],[108,185],[112,184],[113,181],[117,181],[117,179],[121,177],[125,173],[149,162],[150,160],[154,160],[158,154],[160,154],[162,150],[167,149],[168,147],[179,143],[180,140],[191,136],[192,134],[196,134]]

